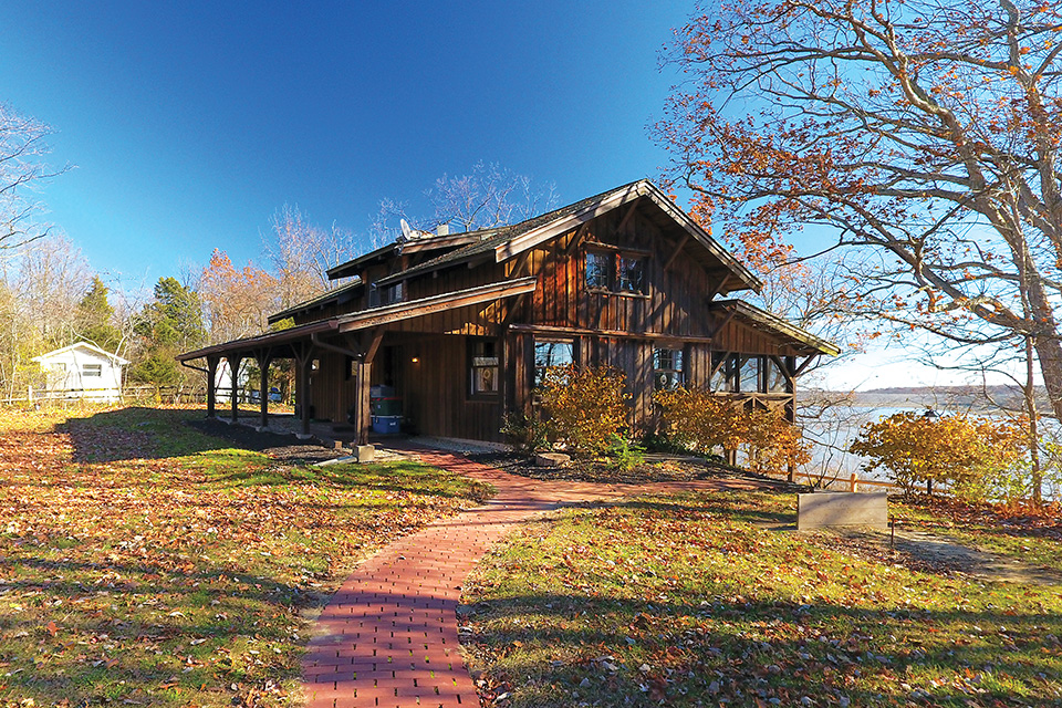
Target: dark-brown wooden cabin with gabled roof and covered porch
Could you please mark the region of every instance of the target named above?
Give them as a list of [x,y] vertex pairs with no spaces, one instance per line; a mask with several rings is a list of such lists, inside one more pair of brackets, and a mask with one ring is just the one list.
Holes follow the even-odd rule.
[[792,416],[796,376],[837,353],[737,299],[757,278],[647,180],[512,226],[414,232],[329,277],[353,280],[270,319],[294,326],[179,358],[214,381],[221,358],[290,357],[303,419],[353,421],[363,441],[374,406],[408,433],[500,441],[548,366],[621,368],[644,430],[662,386]]

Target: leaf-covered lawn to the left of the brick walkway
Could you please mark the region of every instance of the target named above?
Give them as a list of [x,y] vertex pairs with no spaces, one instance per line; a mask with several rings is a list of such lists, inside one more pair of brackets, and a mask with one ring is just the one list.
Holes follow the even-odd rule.
[[0,705],[298,705],[305,611],[490,492],[409,462],[278,464],[185,425],[201,416],[0,413]]

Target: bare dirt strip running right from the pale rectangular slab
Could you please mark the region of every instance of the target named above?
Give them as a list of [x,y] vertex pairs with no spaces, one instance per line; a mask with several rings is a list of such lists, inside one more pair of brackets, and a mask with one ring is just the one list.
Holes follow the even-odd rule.
[[821,546],[885,564],[900,564],[923,573],[969,576],[999,583],[1033,585],[1062,584],[1062,574],[1003,555],[970,548],[947,535],[924,531],[897,531],[895,544],[889,533],[871,529],[834,529],[815,533]]

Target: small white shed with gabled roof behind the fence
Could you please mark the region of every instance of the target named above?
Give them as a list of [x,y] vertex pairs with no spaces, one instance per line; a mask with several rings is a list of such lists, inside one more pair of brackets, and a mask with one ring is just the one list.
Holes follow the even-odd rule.
[[129,362],[87,342],[34,356],[48,375],[46,395],[114,402],[122,398],[122,367]]

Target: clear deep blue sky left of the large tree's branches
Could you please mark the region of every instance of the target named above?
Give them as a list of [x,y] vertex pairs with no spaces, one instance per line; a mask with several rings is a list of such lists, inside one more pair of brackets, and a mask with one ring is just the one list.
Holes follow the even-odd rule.
[[[42,198],[112,282],[258,259],[283,204],[365,233],[379,199],[498,162],[562,202],[654,177],[686,2],[34,2],[0,101],[76,169]],[[420,209],[427,211],[426,208]]]

